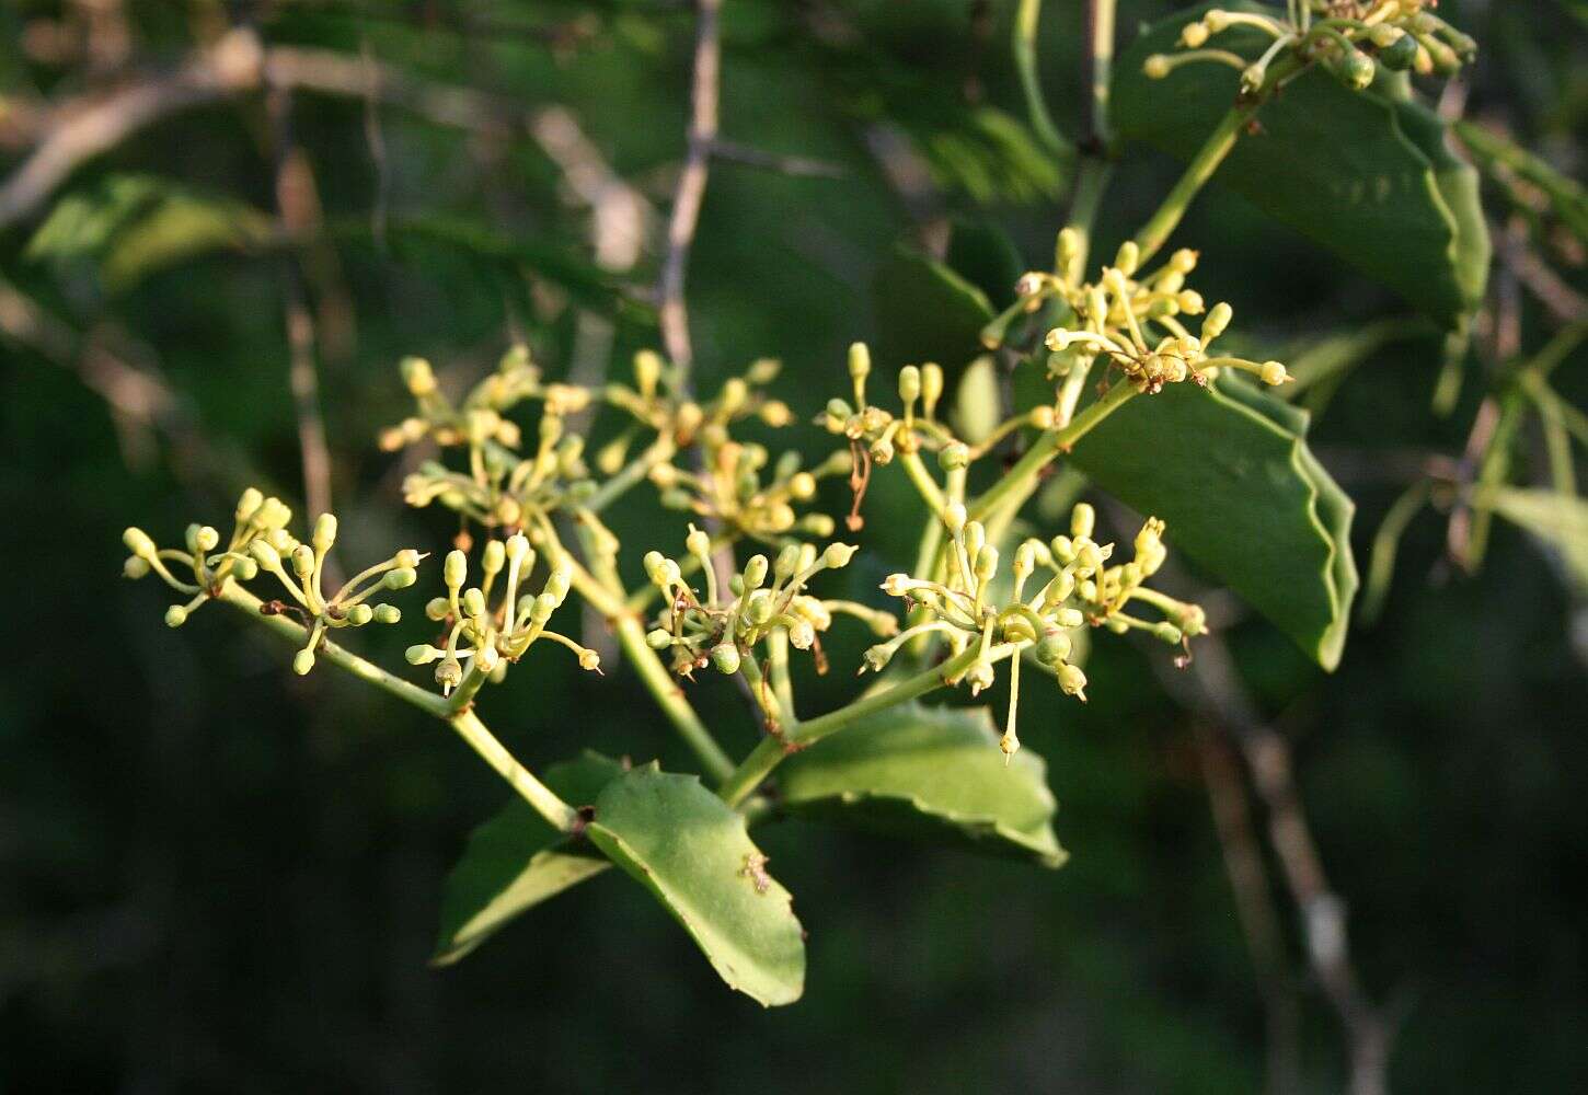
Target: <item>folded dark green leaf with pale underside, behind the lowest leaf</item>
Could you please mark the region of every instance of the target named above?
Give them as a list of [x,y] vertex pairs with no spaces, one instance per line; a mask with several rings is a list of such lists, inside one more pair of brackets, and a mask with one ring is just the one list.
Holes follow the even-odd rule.
[[[611,757],[584,751],[576,760],[551,765],[542,779],[564,801],[586,806],[624,770]],[[462,859],[446,876],[430,963],[457,962],[519,912],[608,866],[589,843],[567,840],[529,803],[513,798],[468,836]]]

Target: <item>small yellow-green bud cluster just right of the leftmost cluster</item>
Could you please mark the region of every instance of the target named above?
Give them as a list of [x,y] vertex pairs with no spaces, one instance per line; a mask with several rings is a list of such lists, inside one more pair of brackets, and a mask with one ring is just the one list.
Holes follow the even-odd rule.
[[534,568],[535,549],[522,533],[515,533],[507,541],[489,540],[480,554],[480,584],[465,589],[468,555],[457,549],[448,552],[441,567],[446,597],[437,597],[424,606],[424,614],[446,628],[446,638],[441,646],[410,646],[408,663],[437,662],[435,682],[445,695],[451,695],[464,681],[464,662],[473,659],[475,673],[500,681],[508,663],[524,657],[535,641],[551,640],[573,651],[580,668],[599,673],[600,655],[596,651],[580,646],[567,635],[546,630],[551,614],[567,600],[573,562],[565,554],[553,559],[538,594],[526,589]]

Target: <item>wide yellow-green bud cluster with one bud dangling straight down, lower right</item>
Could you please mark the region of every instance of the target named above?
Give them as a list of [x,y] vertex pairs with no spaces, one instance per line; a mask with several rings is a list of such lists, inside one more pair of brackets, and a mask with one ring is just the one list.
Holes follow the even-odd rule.
[[[999,551],[988,543],[980,521],[967,521],[959,503],[950,503],[943,514],[950,535],[948,567],[943,581],[889,574],[883,590],[904,597],[912,606],[912,624],[897,636],[865,652],[867,668],[885,668],[899,649],[916,636],[946,636],[958,655],[975,646],[973,659],[948,684],[964,681],[977,695],[994,681],[991,652],[994,644],[1034,644],[1039,665],[1058,679],[1066,695],[1086,698],[1086,674],[1070,662],[1073,640],[1080,627],[1107,627],[1124,633],[1140,628],[1164,643],[1180,644],[1207,632],[1201,608],[1166,597],[1143,582],[1162,567],[1167,551],[1162,543],[1164,522],[1148,517],[1135,536],[1131,562],[1108,565],[1113,544],[1093,540],[1096,514],[1080,503],[1070,514],[1070,533],[1050,543],[1026,540],[1010,563],[1012,584],[1000,587]],[[1032,576],[1045,570],[1050,578],[1026,597]],[[1159,619],[1147,620],[1124,609],[1139,600],[1156,609]],[[1015,713],[1019,700],[1019,659],[1010,670],[1008,719],[1000,746],[1005,755],[1019,749]]]

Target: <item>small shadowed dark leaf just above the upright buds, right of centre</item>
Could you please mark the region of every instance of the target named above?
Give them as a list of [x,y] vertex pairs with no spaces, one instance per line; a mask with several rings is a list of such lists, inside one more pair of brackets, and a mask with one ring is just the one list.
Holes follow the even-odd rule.
[[950,381],[983,352],[985,292],[937,259],[896,244],[877,270],[877,351],[889,363],[937,362]]

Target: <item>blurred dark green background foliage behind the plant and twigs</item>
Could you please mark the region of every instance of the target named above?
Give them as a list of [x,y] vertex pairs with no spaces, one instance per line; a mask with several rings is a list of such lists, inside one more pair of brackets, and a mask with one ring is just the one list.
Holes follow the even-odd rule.
[[[100,79],[75,56],[51,56],[44,30],[92,6],[0,8],[8,103]],[[257,21],[272,43],[368,49],[516,103],[565,105],[657,203],[681,156],[688,5],[111,6],[143,67],[175,63],[195,27],[230,16]],[[942,208],[991,213],[1027,262],[1045,262],[1062,213],[1051,168],[967,122],[973,110],[1023,119],[1010,8],[727,3],[724,133],[843,176],[716,165],[689,282],[703,387],[757,355],[784,360],[781,394],[802,417],[842,387],[845,344],[875,333],[873,271],[910,224],[867,144],[880,125],[934,149]],[[1078,16],[1050,8],[1042,65],[1069,121]],[[1124,3],[1121,36],[1162,10]],[[1469,116],[1580,175],[1582,6],[1440,10],[1483,43]],[[324,305],[333,287],[351,317],[351,338],[322,346],[321,365],[345,540],[353,559],[440,544],[445,516],[402,509],[397,460],[373,446],[403,413],[394,363],[426,354],[464,382],[522,333],[562,370],[575,309],[556,282],[584,276],[588,214],[518,135],[481,140],[386,108],[378,167],[362,102],[305,94],[292,106],[324,206],[329,273],[313,292]],[[178,113],[62,194],[149,175],[270,211],[265,133],[257,98]],[[21,149],[6,157],[14,165]],[[1105,249],[1172,178],[1169,160],[1131,151],[1104,209]],[[73,328],[130,348],[140,367],[157,363],[206,444],[118,430],[79,371],[0,341],[0,544],[16,613],[0,670],[0,1090],[1261,1087],[1259,981],[1193,722],[1124,643],[1097,643],[1085,708],[1029,701],[1021,736],[1048,759],[1072,851],[1064,870],[794,822],[757,836],[810,928],[807,992],[792,1008],[762,1011],[724,990],[615,873],[462,965],[427,968],[440,879],[505,798],[494,776],[386,697],[330,671],[291,676],[284,651],[225,609],[167,630],[160,590],[119,578],[127,524],[219,524],[252,481],[300,495],[278,251],[224,248],[111,284],[95,256],[29,254],[37,222],[0,236],[3,276]],[[1401,311],[1216,189],[1177,240],[1202,246],[1204,292],[1277,348]],[[635,284],[654,260],[653,248]],[[1567,276],[1582,284],[1580,271]],[[1548,335],[1531,303],[1523,322],[1524,344]],[[654,343],[643,308],[616,309],[615,362]],[[1559,375],[1578,405],[1580,367],[1578,355]],[[1318,452],[1361,505],[1363,554],[1397,489],[1372,468],[1464,441],[1482,381],[1437,417],[1437,371],[1434,340],[1399,343],[1356,370],[1315,427]],[[808,427],[791,435],[810,452],[827,444]],[[902,498],[878,487],[873,527],[886,528]],[[648,506],[621,522],[635,555],[678,532],[675,516]],[[1431,514],[1412,525],[1382,622],[1353,633],[1332,676],[1261,620],[1228,640],[1294,749],[1366,989],[1399,1019],[1394,1090],[1567,1090],[1588,1078],[1585,617],[1515,528],[1499,530],[1477,579],[1442,563],[1442,538]],[[859,570],[885,567],[878,552]],[[418,600],[403,605],[413,613]],[[384,647],[397,660],[400,643]],[[840,670],[805,684],[807,705],[842,701],[853,687],[842,667],[858,649],[840,643]],[[730,749],[748,749],[732,689],[708,681],[696,695]],[[488,703],[530,765],[591,746],[688,768],[622,671],[591,679],[530,659]],[[1305,974],[1293,906],[1275,900],[1305,1085],[1337,1089],[1337,1019]]]

